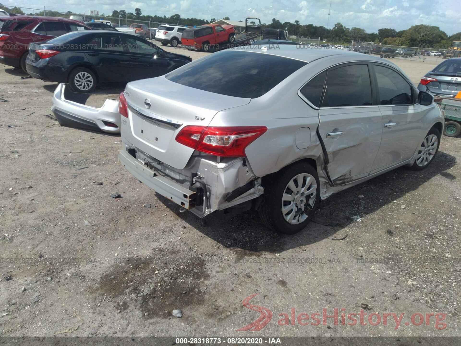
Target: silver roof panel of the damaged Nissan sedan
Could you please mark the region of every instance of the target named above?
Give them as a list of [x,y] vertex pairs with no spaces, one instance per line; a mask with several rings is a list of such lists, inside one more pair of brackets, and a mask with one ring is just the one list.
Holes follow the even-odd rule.
[[[266,49],[265,49],[266,47]],[[301,48],[303,47],[303,48]],[[330,48],[326,49],[318,47],[313,49],[309,46],[294,46],[294,45],[254,45],[254,46],[243,46],[232,48],[234,51],[244,51],[244,52],[253,52],[253,53],[263,53],[263,54],[272,54],[278,55],[285,58],[296,59],[306,62],[312,62],[320,58],[327,56],[339,55],[339,54],[354,54],[357,56],[357,60],[377,60],[377,57],[370,56],[368,54],[351,52],[343,49]],[[225,52],[225,51],[224,51]]]

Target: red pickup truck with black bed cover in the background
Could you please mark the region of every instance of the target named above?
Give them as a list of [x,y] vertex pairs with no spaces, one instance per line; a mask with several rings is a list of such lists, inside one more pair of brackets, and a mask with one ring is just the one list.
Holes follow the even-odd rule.
[[201,49],[204,52],[218,50],[223,43],[235,41],[234,25],[205,24],[184,30],[181,36],[183,48]]

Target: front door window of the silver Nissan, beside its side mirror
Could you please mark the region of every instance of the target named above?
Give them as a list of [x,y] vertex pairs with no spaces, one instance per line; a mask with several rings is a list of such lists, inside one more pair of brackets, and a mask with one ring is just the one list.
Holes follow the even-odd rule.
[[378,81],[378,104],[408,105],[413,103],[410,84],[397,72],[390,68],[374,65]]

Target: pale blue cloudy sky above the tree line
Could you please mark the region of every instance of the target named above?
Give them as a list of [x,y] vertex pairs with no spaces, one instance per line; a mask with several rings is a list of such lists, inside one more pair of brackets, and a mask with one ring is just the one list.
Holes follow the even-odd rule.
[[[38,7],[61,11],[82,12],[112,10],[143,14],[166,15],[179,13],[181,17],[222,18],[244,20],[259,17],[270,23],[272,18],[282,22],[299,20],[301,24],[327,25],[330,0],[0,0],[6,6]],[[330,28],[337,22],[351,28],[361,27],[367,32],[380,28],[407,29],[414,24],[439,26],[448,35],[461,31],[460,0],[332,0]]]

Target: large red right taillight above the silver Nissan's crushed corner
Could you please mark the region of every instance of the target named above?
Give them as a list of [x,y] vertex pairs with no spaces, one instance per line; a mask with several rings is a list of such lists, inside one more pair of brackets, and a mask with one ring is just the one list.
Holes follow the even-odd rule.
[[266,126],[206,127],[189,125],[176,136],[178,143],[217,156],[245,156],[245,148],[267,131]]

